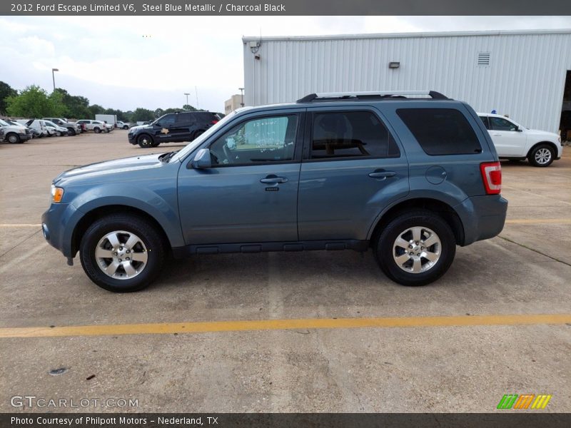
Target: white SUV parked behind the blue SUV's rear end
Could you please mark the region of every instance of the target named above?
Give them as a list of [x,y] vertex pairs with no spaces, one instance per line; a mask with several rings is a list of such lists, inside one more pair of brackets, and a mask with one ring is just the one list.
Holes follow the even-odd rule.
[[526,158],[533,166],[549,166],[561,158],[561,137],[556,133],[528,129],[506,116],[477,113],[492,136],[497,156],[513,161]]

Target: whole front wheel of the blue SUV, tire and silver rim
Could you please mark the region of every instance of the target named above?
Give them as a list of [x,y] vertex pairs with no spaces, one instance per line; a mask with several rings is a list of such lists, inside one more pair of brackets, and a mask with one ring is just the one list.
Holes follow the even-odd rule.
[[81,239],[89,279],[113,292],[147,287],[161,272],[164,245],[157,230],[135,215],[112,214],[93,223]]

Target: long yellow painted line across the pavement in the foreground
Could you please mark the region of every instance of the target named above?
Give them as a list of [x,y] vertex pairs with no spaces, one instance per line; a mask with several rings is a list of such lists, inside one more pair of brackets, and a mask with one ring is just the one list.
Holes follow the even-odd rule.
[[305,320],[246,320],[212,322],[159,322],[149,324],[77,325],[62,327],[4,327],[0,338],[173,333],[246,332],[260,330],[315,330],[390,327],[475,327],[485,325],[571,324],[571,314],[460,315],[447,317],[310,318]]

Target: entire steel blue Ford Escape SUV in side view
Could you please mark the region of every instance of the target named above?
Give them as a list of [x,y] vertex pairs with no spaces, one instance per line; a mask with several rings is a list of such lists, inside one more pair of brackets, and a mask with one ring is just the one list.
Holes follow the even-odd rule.
[[434,91],[311,94],[241,108],[181,151],[62,173],[42,228],[117,292],[146,287],[168,253],[368,248],[391,280],[425,285],[456,245],[500,233],[501,180],[466,103]]

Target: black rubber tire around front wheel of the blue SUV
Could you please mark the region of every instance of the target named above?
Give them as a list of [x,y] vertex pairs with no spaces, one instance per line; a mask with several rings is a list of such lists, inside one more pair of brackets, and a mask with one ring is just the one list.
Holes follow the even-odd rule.
[[[137,238],[140,238],[142,245],[144,245],[139,249],[146,248],[146,251],[144,252],[146,253],[147,258],[146,263],[141,267],[141,271],[137,272],[131,278],[126,277],[118,279],[116,277],[111,277],[103,272],[103,267],[100,267],[98,264],[98,260],[96,258],[98,243],[100,243],[107,234],[113,234],[114,232],[119,232],[119,236],[123,236],[123,240],[128,238],[128,234],[134,234]],[[126,234],[121,235],[120,232],[126,232]],[[123,245],[124,244],[125,243],[123,242]],[[95,223],[89,226],[83,238],[81,238],[79,251],[81,266],[84,267],[84,271],[89,279],[95,282],[99,287],[112,292],[133,292],[143,290],[143,288],[150,285],[161,272],[161,267],[165,258],[163,240],[156,228],[143,218],[127,214],[111,214],[96,220]],[[121,254],[119,254],[119,256],[121,256]],[[114,260],[114,258],[104,259],[102,263],[108,262],[109,265],[111,265]],[[126,260],[122,260],[122,263],[126,263]],[[135,265],[137,263],[139,262],[133,262],[132,260],[129,262],[130,265]],[[123,268],[118,267],[116,269],[116,272],[118,272],[116,275],[123,275],[121,269]],[[126,272],[126,270],[123,269],[123,272]],[[123,276],[128,275],[125,273]]]

